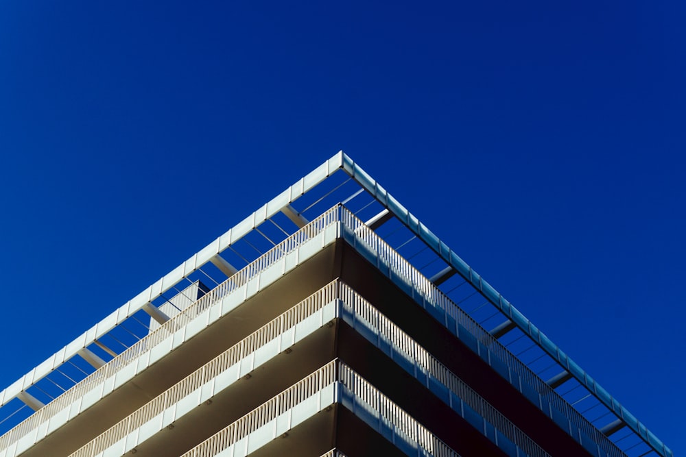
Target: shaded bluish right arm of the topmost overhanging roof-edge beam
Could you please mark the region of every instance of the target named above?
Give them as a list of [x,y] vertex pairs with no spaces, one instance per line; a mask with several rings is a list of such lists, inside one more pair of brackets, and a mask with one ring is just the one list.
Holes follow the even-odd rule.
[[353,180],[360,186],[364,187],[379,203],[385,206],[395,217],[399,219],[408,229],[410,229],[418,238],[420,238],[427,246],[429,246],[442,260],[445,260],[453,269],[455,269],[460,276],[471,284],[496,308],[505,314],[510,321],[527,334],[534,343],[537,343],[546,354],[556,360],[562,367],[564,367],[573,378],[575,378],[582,386],[585,386],[591,394],[593,394],[604,406],[615,413],[619,419],[636,434],[638,434],[643,441],[645,441],[655,452],[663,457],[673,457],[672,450],[657,438],[650,430],[646,428],[634,415],[632,415],[624,406],[617,402],[617,399],[612,397],[598,382],[593,380],[591,376],[586,373],[579,365],[576,364],[565,352],[563,352],[555,343],[553,343],[543,332],[541,332],[534,324],[531,323],[517,308],[503,297],[498,291],[486,282],[481,275],[476,273],[456,252],[443,243],[438,236],[419,221],[411,212],[401,205],[386,189],[379,185],[366,171],[364,171],[358,164],[356,164],[345,153],[338,153],[334,158],[342,156],[342,167]]

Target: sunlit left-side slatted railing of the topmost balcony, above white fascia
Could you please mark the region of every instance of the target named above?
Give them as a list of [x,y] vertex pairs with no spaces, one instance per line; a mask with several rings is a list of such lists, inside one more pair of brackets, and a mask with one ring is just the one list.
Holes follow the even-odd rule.
[[154,332],[150,332],[150,334],[141,338],[141,340],[121,352],[121,354],[113,358],[113,360],[110,360],[106,365],[100,367],[95,372],[91,373],[91,375],[88,375],[67,392],[62,393],[62,395],[54,399],[54,401],[43,408],[40,408],[40,410],[36,411],[33,415],[27,417],[27,419],[3,434],[3,436],[0,436],[0,449],[5,449],[16,441],[19,441],[21,437],[35,430],[41,423],[54,417],[64,410],[64,408],[68,408],[73,402],[86,395],[86,393],[104,382],[104,380],[130,365],[131,362],[137,360],[142,354],[151,351],[159,343],[169,338],[171,334],[174,334],[176,330],[183,328],[203,310],[209,308],[209,306],[220,301],[233,291],[236,291],[241,286],[248,284],[248,282],[257,277],[259,273],[276,264],[283,256],[305,244],[327,227],[338,223],[339,220],[340,206],[335,206],[327,212],[324,212],[320,217],[314,219],[305,225],[305,227],[298,230],[298,232],[295,232],[292,236],[289,236],[289,238],[283,240],[270,249],[270,251],[263,254],[263,256],[257,258],[257,260],[248,264],[235,275],[229,277],[228,280],[213,288],[209,293],[196,301],[195,304],[189,306],[179,314],[176,314],[176,316],[169,319],[169,321],[154,330]]

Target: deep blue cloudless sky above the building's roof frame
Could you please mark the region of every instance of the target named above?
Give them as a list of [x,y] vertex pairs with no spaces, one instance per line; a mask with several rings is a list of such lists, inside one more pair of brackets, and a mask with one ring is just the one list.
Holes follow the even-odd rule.
[[686,452],[684,24],[680,1],[3,1],[0,389],[343,149]]

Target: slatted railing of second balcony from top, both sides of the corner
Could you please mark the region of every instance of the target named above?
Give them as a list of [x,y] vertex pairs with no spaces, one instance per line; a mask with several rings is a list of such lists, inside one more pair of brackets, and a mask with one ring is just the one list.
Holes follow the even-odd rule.
[[[331,312],[322,314],[324,307],[333,305],[337,299],[338,302],[335,304],[335,310],[332,306]],[[427,387],[429,386],[429,380],[433,380],[434,382],[439,382],[443,388],[452,393],[456,397],[454,403],[453,395],[449,395],[447,399],[445,396],[439,395],[439,397],[444,402],[447,402],[457,414],[465,417],[464,406],[466,406],[469,408],[468,411],[471,410],[479,415],[479,423],[473,423],[477,430],[481,429],[486,434],[483,422],[485,420],[501,436],[504,436],[510,443],[513,443],[514,446],[525,452],[526,455],[531,457],[548,456],[524,432],[514,426],[504,415],[488,404],[483,397],[469,388],[423,347],[412,340],[410,336],[407,336],[405,332],[383,316],[368,301],[357,295],[353,289],[340,282],[340,280],[335,280],[279,317],[276,317],[276,319],[265,324],[242,341],[239,341],[233,347],[224,351],[223,354],[208,362],[204,367],[191,373],[187,378],[169,388],[169,390],[153,399],[150,403],[139,408],[132,415],[78,449],[70,457],[87,457],[103,452],[134,432],[134,430],[141,428],[146,423],[150,423],[155,418],[161,417],[165,410],[168,410],[188,395],[195,395],[202,386],[205,386],[222,373],[227,373],[230,369],[235,368],[241,363],[241,360],[250,360],[248,371],[252,371],[257,365],[267,361],[268,356],[266,356],[265,347],[275,343],[270,354],[279,354],[285,347],[296,342],[293,330],[301,328],[303,323],[311,321],[312,317],[317,317],[317,319],[314,325],[309,326],[310,330],[320,328],[329,319],[333,319],[333,317],[343,317],[346,321],[352,321],[353,328],[362,331],[368,339],[370,338],[368,336],[369,330],[372,330],[376,335],[374,339],[383,338],[383,341],[394,349],[391,355],[394,356],[393,358],[396,362],[401,362],[399,357],[403,357],[406,362],[412,364],[413,369],[407,369],[407,363],[399,363],[399,365],[408,372],[414,373],[414,376],[418,379],[424,376]],[[350,317],[353,317],[353,319],[349,319]],[[362,325],[364,325],[364,328],[361,328]],[[289,338],[292,339],[286,338],[284,341],[285,334],[290,335]],[[307,333],[300,332],[298,339],[305,336],[307,336]],[[261,351],[262,355],[256,357],[255,354],[258,351]],[[239,379],[244,374],[246,373],[236,370],[232,378]],[[436,393],[435,390],[432,391]],[[204,399],[200,399],[200,403],[202,401]],[[156,430],[161,430],[165,425],[167,424],[160,421],[156,426]],[[491,439],[493,439],[493,436],[491,436]],[[499,442],[497,439],[495,444],[507,447],[506,442]],[[128,452],[128,450],[121,449],[121,452]],[[519,455],[519,452],[515,450],[513,454]]]

